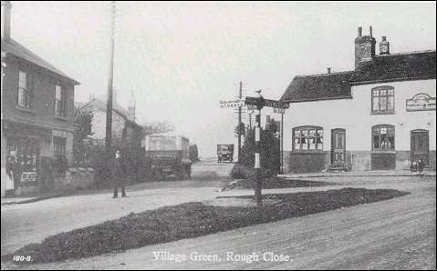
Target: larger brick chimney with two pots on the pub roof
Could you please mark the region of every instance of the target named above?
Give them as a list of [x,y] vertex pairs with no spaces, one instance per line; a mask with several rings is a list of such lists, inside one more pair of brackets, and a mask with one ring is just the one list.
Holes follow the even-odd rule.
[[362,28],[359,27],[358,36],[355,38],[355,69],[359,68],[360,63],[373,60],[375,45],[372,27],[369,26],[369,35],[362,35]]

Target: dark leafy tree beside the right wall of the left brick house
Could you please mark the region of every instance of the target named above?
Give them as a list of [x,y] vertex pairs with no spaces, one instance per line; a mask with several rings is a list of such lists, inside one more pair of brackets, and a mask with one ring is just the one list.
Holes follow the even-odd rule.
[[73,136],[73,161],[75,163],[88,160],[89,146],[86,142],[88,135],[92,135],[93,113],[89,110],[76,108],[74,113],[75,132]]

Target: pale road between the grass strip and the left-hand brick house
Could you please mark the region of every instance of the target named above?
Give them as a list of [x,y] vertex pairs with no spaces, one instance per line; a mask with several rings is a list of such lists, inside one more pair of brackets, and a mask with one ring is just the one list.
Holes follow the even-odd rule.
[[232,165],[213,166],[202,162],[192,166],[192,180],[143,183],[128,188],[127,198],[112,199],[110,189],[96,194],[65,196],[44,201],[2,206],[1,255],[14,252],[47,236],[96,225],[161,206],[204,201],[219,195],[218,189]]

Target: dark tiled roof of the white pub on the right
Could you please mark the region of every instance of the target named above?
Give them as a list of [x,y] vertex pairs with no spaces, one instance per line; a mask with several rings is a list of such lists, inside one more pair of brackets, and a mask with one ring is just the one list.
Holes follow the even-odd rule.
[[436,77],[435,50],[376,55],[355,71],[323,75],[297,75],[281,100],[302,102],[351,97],[351,85]]

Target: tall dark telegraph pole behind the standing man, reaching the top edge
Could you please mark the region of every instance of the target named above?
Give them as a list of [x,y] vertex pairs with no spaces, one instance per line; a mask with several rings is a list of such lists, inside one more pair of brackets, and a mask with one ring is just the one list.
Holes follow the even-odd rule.
[[108,79],[108,101],[106,104],[106,140],[105,150],[107,162],[111,160],[112,143],[112,92],[114,81],[114,32],[115,32],[115,1],[111,1],[110,12],[110,59],[109,59],[109,79]]

